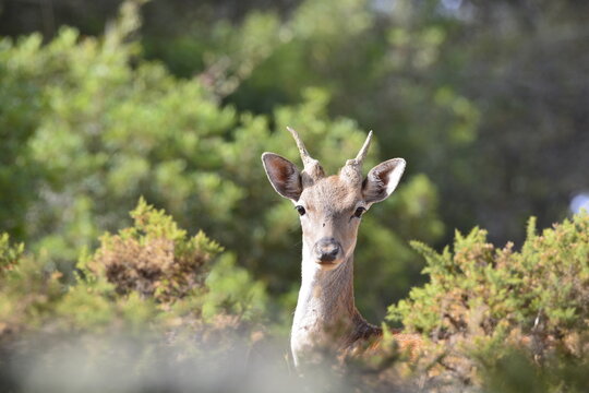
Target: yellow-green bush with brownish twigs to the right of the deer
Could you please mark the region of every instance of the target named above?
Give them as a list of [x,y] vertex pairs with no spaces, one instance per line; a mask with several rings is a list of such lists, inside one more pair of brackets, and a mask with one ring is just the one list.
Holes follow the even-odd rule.
[[[578,370],[589,359],[589,215],[541,235],[531,218],[527,233],[519,252],[512,243],[495,249],[479,228],[457,233],[453,251],[414,242],[430,283],[392,306],[388,318],[437,343],[441,364],[462,380],[477,381],[479,368],[498,389],[497,374],[518,362],[522,372],[544,374],[539,385],[546,391],[563,383],[581,391]],[[567,380],[567,373],[577,377]],[[517,383],[502,378],[505,389]]]

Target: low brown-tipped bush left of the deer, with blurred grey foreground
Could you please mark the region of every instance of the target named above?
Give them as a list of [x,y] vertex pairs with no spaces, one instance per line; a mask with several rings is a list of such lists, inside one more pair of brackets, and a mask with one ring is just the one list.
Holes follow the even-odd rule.
[[82,258],[72,285],[1,237],[1,391],[256,391],[242,359],[265,334],[263,284],[144,200],[131,215],[134,226]]

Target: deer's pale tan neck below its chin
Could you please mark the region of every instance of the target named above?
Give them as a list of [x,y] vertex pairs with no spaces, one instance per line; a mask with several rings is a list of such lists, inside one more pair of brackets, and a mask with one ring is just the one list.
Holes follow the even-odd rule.
[[[353,255],[330,271],[321,270],[303,246],[302,282],[291,331],[294,362],[302,352],[329,340],[346,346],[363,322],[353,300]],[[327,338],[329,333],[338,336]]]

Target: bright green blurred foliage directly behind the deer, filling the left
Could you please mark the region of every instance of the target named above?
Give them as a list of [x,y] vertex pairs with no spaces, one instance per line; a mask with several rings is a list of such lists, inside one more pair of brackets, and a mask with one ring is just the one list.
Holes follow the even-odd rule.
[[[139,57],[129,39],[137,15],[129,4],[101,37],[63,27],[47,45],[38,34],[2,40],[0,80],[35,99],[0,112],[1,132],[19,139],[0,169],[11,190],[0,209],[10,219],[0,228],[72,281],[79,250],[127,225],[123,217],[143,195],[189,231],[218,239],[274,294],[288,293],[300,270],[297,214],[273,192],[260,156],[274,151],[298,162],[289,124],[333,172],[357,154],[364,133],[353,120],[329,118],[329,96],[318,88],[272,116],[219,104],[203,78],[178,79]],[[251,28],[262,23],[254,20]],[[373,147],[366,170],[376,163]],[[360,306],[372,318],[418,276],[417,254],[402,240],[433,240],[443,229],[432,182],[418,175],[404,186],[375,207],[359,241],[357,260],[371,266],[358,270],[359,286],[374,289]]]

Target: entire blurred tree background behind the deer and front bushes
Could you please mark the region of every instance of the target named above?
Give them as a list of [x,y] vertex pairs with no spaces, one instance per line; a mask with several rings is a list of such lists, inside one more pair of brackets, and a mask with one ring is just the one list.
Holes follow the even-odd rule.
[[287,124],[332,171],[369,129],[368,167],[408,159],[361,227],[374,321],[421,279],[408,240],[519,245],[589,189],[587,2],[140,3],[0,0],[0,233],[67,277],[143,195],[292,307],[298,217],[260,163],[298,162]]

